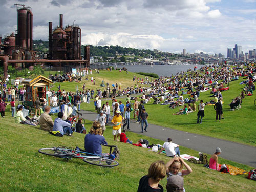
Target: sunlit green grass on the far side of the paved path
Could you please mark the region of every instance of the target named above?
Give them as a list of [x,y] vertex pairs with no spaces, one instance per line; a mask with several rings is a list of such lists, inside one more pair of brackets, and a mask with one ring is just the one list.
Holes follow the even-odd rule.
[[[179,111],[179,108],[169,109],[166,105],[153,105],[153,99],[148,104],[145,104],[146,111],[149,115],[148,122],[172,129],[256,146],[256,138],[252,137],[256,129],[254,123],[256,116],[256,106],[254,106],[255,96],[246,96],[242,102],[242,109],[239,111],[230,111],[230,106],[228,105],[232,99],[241,93],[244,85],[239,85],[239,83],[242,80],[240,78],[240,80],[230,82],[230,90],[222,92],[225,119],[221,120],[221,122],[216,122],[215,120],[216,112],[214,106],[205,106],[203,123],[197,124],[197,112],[190,113],[189,115],[173,115],[173,113]],[[210,91],[201,92],[199,100],[203,99],[204,102],[210,101],[213,98],[209,97],[210,95],[212,95]],[[188,96],[184,95],[184,98]],[[118,100],[124,102],[123,99]],[[199,101],[196,104],[198,105]],[[94,104],[83,103],[81,109],[94,111]]]

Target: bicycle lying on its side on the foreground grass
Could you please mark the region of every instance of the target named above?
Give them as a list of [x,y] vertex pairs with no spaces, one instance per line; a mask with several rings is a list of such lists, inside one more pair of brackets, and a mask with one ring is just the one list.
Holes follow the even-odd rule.
[[[96,155],[92,153],[88,153],[86,151],[81,150],[79,147],[70,148],[66,146],[58,146],[58,147],[52,147],[52,148],[40,148],[38,152],[45,154],[45,155],[51,155],[56,156],[60,158],[65,159],[72,159],[72,158],[81,158],[84,162],[102,166],[102,167],[115,167],[118,166],[118,162],[115,161],[115,158],[119,158],[119,150],[117,146],[115,145],[103,145],[110,147],[110,153],[109,155]],[[114,148],[112,153],[112,148]]]

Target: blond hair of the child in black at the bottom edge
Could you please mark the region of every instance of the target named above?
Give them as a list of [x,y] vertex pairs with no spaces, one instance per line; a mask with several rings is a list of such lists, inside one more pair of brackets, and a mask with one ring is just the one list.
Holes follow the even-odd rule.
[[166,168],[163,161],[158,160],[153,162],[148,168],[148,177],[156,182],[162,180],[166,175]]

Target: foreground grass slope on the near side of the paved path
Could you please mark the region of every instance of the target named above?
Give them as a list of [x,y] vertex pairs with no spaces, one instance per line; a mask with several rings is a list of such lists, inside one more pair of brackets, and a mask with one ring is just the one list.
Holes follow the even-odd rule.
[[[14,123],[6,110],[6,118],[1,119],[0,139],[0,191],[136,191],[139,179],[147,174],[148,167],[155,160],[167,162],[169,158],[148,151],[146,148],[114,142],[112,129],[107,126],[104,136],[109,144],[119,147],[121,154],[119,166],[101,168],[82,161],[65,160],[38,153],[42,147],[84,146],[84,134],[74,133],[74,137],[54,137],[38,127]],[[56,117],[56,116],[53,116]],[[86,122],[89,130],[91,122]],[[140,135],[127,132],[136,142]],[[163,141],[143,137],[150,143]],[[104,147],[103,147],[104,148]],[[180,147],[181,153],[198,156],[198,152]],[[104,148],[104,152],[107,148]],[[209,154],[208,158],[210,157]],[[252,167],[219,158],[220,163],[231,164],[249,171]],[[202,165],[188,163],[193,173],[184,177],[186,191],[254,191],[255,181],[245,175],[231,176],[204,168]],[[160,184],[165,188],[166,178]],[[166,191],[166,190],[165,190]]]

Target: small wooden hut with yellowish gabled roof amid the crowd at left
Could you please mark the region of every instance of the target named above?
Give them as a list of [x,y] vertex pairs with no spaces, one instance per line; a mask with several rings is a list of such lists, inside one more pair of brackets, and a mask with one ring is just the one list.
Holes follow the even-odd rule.
[[41,102],[44,98],[47,100],[47,105],[50,103],[48,92],[52,81],[44,76],[39,75],[34,79],[24,79],[23,84],[26,86],[25,102],[28,106],[34,106],[34,102],[38,97]]

